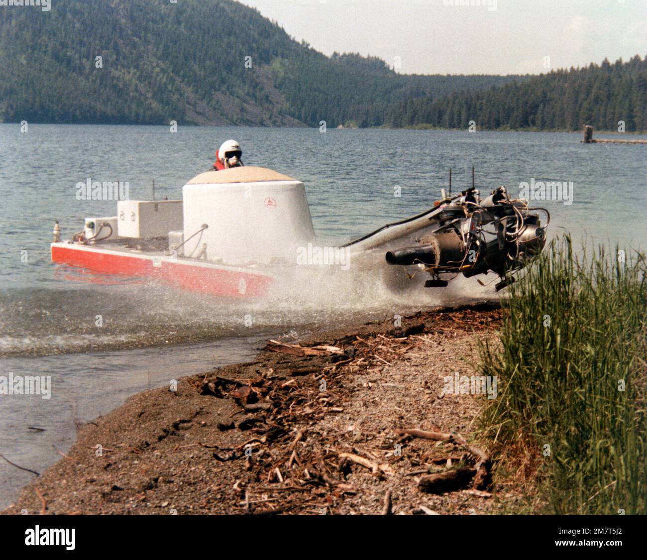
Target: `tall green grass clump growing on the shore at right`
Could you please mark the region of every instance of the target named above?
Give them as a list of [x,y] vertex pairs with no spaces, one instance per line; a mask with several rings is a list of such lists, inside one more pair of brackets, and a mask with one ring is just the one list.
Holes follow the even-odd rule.
[[647,513],[645,260],[619,254],[554,240],[481,346],[499,383],[482,427],[552,513]]

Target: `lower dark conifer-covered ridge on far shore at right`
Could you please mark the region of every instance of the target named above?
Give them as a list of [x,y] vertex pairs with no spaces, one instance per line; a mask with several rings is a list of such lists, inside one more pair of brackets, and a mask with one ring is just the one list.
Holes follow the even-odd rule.
[[487,91],[461,91],[440,98],[410,99],[391,107],[392,127],[481,129],[647,130],[647,57],[558,70]]

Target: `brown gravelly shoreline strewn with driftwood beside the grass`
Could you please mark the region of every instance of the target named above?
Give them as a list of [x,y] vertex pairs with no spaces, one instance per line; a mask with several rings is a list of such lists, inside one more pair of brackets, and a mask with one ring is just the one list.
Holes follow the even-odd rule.
[[455,469],[475,458],[397,432],[470,438],[485,398],[442,396],[443,377],[476,374],[477,341],[500,319],[498,306],[477,304],[317,333],[300,344],[340,350],[275,345],[184,377],[177,392],[142,392],[80,429],[3,513],[378,514],[388,495],[395,514],[508,510],[520,499],[511,490],[421,491],[448,459]]

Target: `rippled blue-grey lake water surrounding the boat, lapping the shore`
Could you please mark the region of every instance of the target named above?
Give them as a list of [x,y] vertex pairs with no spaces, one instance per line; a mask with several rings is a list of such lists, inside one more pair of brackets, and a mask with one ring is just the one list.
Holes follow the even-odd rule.
[[[131,199],[148,199],[155,179],[157,197],[179,198],[188,179],[210,168],[216,146],[235,138],[246,164],[305,183],[318,238],[332,245],[431,207],[450,167],[454,192],[466,188],[474,165],[481,195],[499,185],[517,195],[531,179],[572,181],[572,205],[537,203],[552,214],[551,236],[567,230],[609,249],[645,249],[647,146],[580,144],[580,136],[36,124],[21,133],[18,124],[0,124],[0,375],[53,382],[49,401],[0,397],[0,453],[41,471],[71,444],[74,418],[104,414],[139,390],[248,359],[270,336],[443,302],[438,292],[399,300],[368,283],[353,298],[294,286],[269,302],[232,303],[155,284],[97,282],[49,258],[55,219],[67,238],[85,216],[116,214],[114,201],[77,200],[79,181],[128,181]],[[170,335],[179,344],[168,344]],[[0,460],[0,507],[31,476]]]

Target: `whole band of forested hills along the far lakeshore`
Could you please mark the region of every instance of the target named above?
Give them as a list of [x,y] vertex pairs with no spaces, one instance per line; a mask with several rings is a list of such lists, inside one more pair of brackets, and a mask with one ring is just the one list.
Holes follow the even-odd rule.
[[57,0],[0,12],[0,122],[21,120],[646,130],[647,58],[401,75],[376,57],[325,56],[233,0]]

